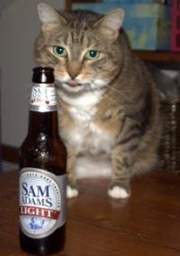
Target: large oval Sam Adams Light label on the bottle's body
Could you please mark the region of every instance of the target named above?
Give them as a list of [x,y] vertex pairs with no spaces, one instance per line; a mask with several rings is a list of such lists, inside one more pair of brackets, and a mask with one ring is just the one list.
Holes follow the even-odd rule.
[[24,234],[44,238],[66,223],[66,175],[23,168],[19,185],[20,225]]

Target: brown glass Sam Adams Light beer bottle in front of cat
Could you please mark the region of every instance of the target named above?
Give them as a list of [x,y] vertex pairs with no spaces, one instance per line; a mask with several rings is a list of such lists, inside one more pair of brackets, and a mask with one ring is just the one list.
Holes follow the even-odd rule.
[[53,69],[33,69],[28,135],[20,147],[20,245],[47,255],[65,243],[67,151],[58,135]]

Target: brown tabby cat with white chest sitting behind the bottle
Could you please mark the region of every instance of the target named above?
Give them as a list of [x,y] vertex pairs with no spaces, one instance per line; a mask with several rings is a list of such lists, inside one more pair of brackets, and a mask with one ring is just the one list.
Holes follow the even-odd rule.
[[130,179],[155,166],[158,95],[121,29],[124,11],[58,12],[40,3],[35,59],[54,68],[59,133],[67,147],[67,197],[79,177],[109,176],[112,198],[131,194]]

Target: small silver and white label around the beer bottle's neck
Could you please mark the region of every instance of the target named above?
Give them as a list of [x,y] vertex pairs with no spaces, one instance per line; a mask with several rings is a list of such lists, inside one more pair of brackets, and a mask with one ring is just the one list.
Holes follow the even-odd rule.
[[34,83],[31,90],[30,110],[50,112],[57,110],[57,97],[54,84]]

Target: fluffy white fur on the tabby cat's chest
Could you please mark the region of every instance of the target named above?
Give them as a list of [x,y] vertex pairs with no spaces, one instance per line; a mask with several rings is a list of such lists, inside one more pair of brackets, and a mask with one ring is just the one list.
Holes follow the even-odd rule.
[[[63,97],[63,95],[61,95]],[[103,128],[103,122],[98,118],[98,103],[102,92],[86,93],[76,99],[65,96],[68,103],[68,113],[72,120],[71,128],[64,131],[67,143],[78,153],[109,153],[114,137]]]

